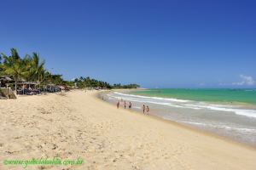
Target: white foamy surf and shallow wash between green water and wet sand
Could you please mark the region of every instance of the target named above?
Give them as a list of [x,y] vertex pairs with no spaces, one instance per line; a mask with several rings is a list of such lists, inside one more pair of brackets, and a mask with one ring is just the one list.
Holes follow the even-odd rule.
[[[126,103],[131,101],[132,109],[135,111],[142,112],[142,106],[148,105],[152,115],[256,146],[256,107],[253,104],[240,104],[236,100],[227,104],[227,102],[175,99],[159,95],[148,96],[143,93],[138,90],[101,95],[113,104],[116,104],[117,100],[124,100]],[[120,106],[122,105],[121,102]]]

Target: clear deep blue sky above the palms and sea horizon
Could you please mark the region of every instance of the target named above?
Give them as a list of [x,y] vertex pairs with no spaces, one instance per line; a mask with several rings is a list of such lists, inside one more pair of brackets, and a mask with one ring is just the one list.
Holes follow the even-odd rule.
[[256,1],[0,0],[0,52],[143,88],[256,88]]

